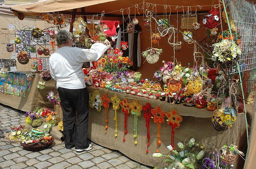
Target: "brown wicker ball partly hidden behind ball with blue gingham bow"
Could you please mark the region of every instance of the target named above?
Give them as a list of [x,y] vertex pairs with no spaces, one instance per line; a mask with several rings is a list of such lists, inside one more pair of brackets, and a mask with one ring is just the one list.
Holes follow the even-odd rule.
[[214,110],[213,111],[213,116],[212,116],[212,126],[214,127],[215,130],[217,131],[224,131],[228,130],[228,125],[224,124],[221,121],[221,115],[222,112],[220,109]]

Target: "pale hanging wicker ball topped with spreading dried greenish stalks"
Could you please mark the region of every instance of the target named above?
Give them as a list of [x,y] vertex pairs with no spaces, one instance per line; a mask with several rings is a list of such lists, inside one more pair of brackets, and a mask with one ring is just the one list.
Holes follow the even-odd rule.
[[148,63],[153,64],[159,60],[159,55],[162,53],[162,49],[148,47],[146,51],[142,52],[143,58],[146,58]]

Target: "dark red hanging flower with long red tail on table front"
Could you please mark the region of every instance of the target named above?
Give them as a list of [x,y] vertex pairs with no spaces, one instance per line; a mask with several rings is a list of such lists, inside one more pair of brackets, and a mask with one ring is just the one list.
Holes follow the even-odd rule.
[[144,111],[144,118],[146,120],[146,128],[147,128],[147,139],[148,139],[148,145],[147,145],[147,151],[146,153],[148,153],[148,147],[149,147],[149,140],[150,140],[150,134],[149,134],[149,124],[150,124],[150,119],[152,117],[152,114],[151,114],[151,110],[153,109],[151,107],[151,104],[150,103],[146,103],[146,105],[143,105],[142,106],[142,109]]

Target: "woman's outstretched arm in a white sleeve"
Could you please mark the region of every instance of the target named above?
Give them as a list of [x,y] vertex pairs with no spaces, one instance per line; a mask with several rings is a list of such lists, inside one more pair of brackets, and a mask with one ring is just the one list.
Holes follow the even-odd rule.
[[80,61],[92,62],[100,59],[102,54],[108,49],[108,47],[102,43],[95,43],[91,49],[81,49]]

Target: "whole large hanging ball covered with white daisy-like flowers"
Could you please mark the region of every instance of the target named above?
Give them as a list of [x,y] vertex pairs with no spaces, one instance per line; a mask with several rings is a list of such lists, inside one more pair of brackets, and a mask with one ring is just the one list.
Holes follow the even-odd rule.
[[221,42],[213,44],[213,46],[212,60],[224,69],[234,66],[238,60],[237,55],[242,53],[239,46],[227,39],[223,39]]

